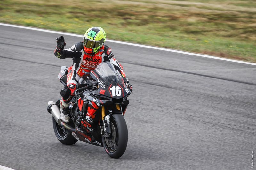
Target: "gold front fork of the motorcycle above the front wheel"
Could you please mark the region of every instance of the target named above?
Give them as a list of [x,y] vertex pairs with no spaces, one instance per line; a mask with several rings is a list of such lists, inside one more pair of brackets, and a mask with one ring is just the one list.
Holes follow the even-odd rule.
[[[116,104],[116,109],[122,111],[121,107],[119,104]],[[104,129],[104,135],[105,137],[109,137],[111,134],[111,126],[110,126],[110,116],[105,113],[105,107],[101,107],[101,116],[102,116],[102,121],[103,121],[103,129]],[[103,135],[103,129],[101,129],[101,135]]]

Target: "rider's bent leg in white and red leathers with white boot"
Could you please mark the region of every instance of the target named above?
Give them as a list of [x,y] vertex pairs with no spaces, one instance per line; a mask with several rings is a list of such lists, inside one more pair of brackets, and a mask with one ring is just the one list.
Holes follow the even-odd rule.
[[67,75],[67,85],[65,88],[68,88],[66,94],[62,94],[62,98],[60,100],[60,119],[68,123],[69,117],[68,117],[68,111],[69,111],[69,104],[72,99],[72,97],[75,95],[75,90],[78,87],[78,81],[80,77],[78,74],[71,69],[71,67],[68,69],[68,75]]

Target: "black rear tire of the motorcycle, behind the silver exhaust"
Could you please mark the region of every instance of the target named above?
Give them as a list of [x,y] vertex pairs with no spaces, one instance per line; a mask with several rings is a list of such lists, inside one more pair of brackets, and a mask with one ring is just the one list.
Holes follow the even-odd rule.
[[[60,100],[58,100],[56,104],[58,107],[60,107]],[[60,127],[60,125],[58,125],[58,123],[55,121],[53,117],[52,117],[52,125],[53,125],[55,136],[62,144],[72,145],[78,141],[73,137],[70,130]],[[69,125],[72,126],[73,128],[75,127],[72,121],[70,122]]]

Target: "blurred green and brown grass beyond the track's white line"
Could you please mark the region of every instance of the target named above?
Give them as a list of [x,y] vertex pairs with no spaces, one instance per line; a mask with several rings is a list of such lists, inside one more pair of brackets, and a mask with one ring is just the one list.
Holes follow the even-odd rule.
[[255,0],[1,0],[0,22],[256,62]]

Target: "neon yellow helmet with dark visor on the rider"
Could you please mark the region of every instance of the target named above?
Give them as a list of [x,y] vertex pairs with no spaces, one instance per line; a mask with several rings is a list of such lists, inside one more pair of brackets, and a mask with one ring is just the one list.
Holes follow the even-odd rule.
[[84,34],[84,52],[97,53],[106,40],[106,33],[101,27],[89,28]]

